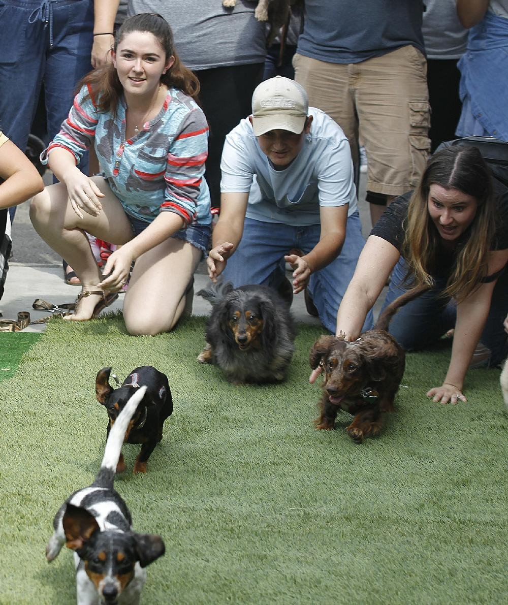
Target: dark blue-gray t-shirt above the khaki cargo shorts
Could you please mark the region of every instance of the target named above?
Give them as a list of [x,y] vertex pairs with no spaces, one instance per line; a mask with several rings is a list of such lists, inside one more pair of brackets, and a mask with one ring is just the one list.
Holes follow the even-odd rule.
[[305,0],[299,54],[359,63],[412,45],[425,53],[423,0]]

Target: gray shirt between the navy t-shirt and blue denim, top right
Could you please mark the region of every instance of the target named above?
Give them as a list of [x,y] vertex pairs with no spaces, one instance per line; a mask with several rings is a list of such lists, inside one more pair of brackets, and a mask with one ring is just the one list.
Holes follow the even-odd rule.
[[466,51],[467,30],[458,20],[455,0],[426,0],[423,39],[428,59],[460,59]]

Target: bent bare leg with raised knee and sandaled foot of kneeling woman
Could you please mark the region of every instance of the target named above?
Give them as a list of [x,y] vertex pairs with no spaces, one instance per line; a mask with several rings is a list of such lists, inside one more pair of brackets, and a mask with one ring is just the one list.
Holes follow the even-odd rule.
[[[30,204],[34,229],[48,246],[73,267],[82,290],[96,290],[102,279],[85,231],[117,244],[126,243],[132,238],[131,224],[120,201],[103,177],[93,177],[93,180],[105,194],[100,198],[102,212],[98,217],[83,212],[83,218],[79,218],[70,206],[67,189],[62,183],[49,185],[34,196]],[[79,309],[67,318],[74,321],[90,319],[101,298],[101,295],[82,298]]]

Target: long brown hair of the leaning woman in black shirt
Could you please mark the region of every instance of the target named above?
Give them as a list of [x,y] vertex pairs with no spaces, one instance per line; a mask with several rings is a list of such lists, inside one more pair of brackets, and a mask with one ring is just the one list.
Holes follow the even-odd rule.
[[459,244],[455,265],[443,296],[463,301],[487,275],[489,250],[495,232],[496,204],[489,167],[478,148],[452,145],[438,151],[429,159],[420,184],[409,200],[405,220],[403,256],[408,260],[412,285],[434,286],[431,272],[435,270],[440,235],[428,211],[431,185],[458,189],[472,195],[478,203],[467,238]]

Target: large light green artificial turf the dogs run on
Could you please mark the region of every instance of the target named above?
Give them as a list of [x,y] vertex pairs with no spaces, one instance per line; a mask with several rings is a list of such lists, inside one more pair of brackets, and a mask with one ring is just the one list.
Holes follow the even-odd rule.
[[[499,371],[469,373],[467,404],[425,397],[448,348],[407,358],[379,438],[314,431],[307,382],[319,329],[301,326],[285,384],[233,386],[195,357],[204,320],[127,336],[117,316],[53,321],[0,384],[0,603],[70,604],[70,551],[44,548],[59,506],[93,480],[105,410],[97,371],[168,374],[175,411],[148,474],[117,479],[138,531],[166,555],[143,603],[506,603],[508,419]],[[448,346],[448,345],[446,345]],[[125,445],[132,469],[139,446]]]

